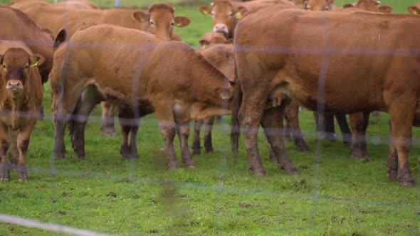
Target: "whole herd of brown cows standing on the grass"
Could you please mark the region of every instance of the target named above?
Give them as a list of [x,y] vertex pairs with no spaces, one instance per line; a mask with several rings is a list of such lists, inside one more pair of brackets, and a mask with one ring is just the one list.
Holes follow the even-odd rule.
[[49,80],[56,158],[65,157],[68,127],[75,154],[85,159],[85,124],[101,103],[103,134],[117,134],[113,116],[119,117],[124,159],[138,157],[140,118],[155,113],[167,168],[179,168],[176,134],[184,166],[195,168],[189,122],[196,122],[192,154],[201,154],[201,125],[205,151],[212,151],[214,116],[232,114],[233,152],[242,133],[253,174],[266,175],[258,152],[261,124],[271,159],[295,175],[283,139],[293,136],[300,151],[308,150],[300,106],[330,117],[319,121],[320,130],[331,127],[335,115],[355,158],[367,155],[369,113],[378,110],[390,116],[388,178],[412,187],[411,127],[420,125],[420,18],[414,15],[420,4],[407,7],[410,14],[391,14],[391,6],[376,0],[342,7],[333,0],[216,0],[197,9],[211,17],[213,28],[194,50],[173,32],[189,18],[174,16],[167,4],[147,11],[100,9],[86,0],[0,6],[0,181],[9,181],[12,169],[18,181],[28,181],[29,139]]

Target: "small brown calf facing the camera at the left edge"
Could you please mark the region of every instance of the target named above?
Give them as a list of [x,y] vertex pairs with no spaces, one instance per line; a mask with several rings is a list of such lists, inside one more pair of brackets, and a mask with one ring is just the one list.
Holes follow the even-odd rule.
[[36,67],[44,58],[32,54],[21,42],[0,41],[0,53],[0,181],[10,181],[7,151],[12,146],[16,149],[12,164],[17,163],[18,181],[27,182],[26,154],[43,101],[41,75]]

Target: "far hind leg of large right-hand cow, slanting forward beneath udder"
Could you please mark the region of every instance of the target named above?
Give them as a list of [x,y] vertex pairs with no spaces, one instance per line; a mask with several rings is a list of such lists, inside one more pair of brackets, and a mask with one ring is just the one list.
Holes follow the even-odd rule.
[[285,151],[283,139],[281,137],[281,117],[283,117],[283,107],[273,107],[264,111],[261,119],[261,125],[266,133],[268,142],[271,145],[275,157],[278,161],[278,167],[284,168],[285,173],[297,175],[298,171],[293,165],[288,153]]

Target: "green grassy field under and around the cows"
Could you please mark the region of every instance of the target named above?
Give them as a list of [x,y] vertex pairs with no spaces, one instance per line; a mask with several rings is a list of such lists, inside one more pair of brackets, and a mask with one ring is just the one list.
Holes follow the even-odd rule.
[[[157,1],[121,1],[121,6],[151,2]],[[382,2],[400,13],[414,3]],[[191,18],[177,33],[194,47],[211,28],[198,6],[176,5],[177,15]],[[48,86],[44,101],[50,114]],[[387,181],[387,114],[370,120],[369,161],[350,159],[340,141],[315,139],[312,112],[302,111],[300,118],[310,150],[302,153],[286,144],[300,176],[285,175],[269,161],[260,134],[268,171],[260,178],[247,169],[243,142],[233,161],[229,117],[214,127],[214,153],[194,156],[196,169],[166,171],[154,114],[142,119],[140,159],[131,161],[120,158],[119,137],[100,135],[100,109],[87,125],[87,159],[78,160],[68,137],[69,159],[52,159],[53,124],[47,115],[31,139],[29,182],[18,183],[13,172],[10,182],[0,183],[0,214],[110,235],[420,235],[420,129],[414,128],[409,155],[417,187],[409,189]],[[59,234],[0,223],[0,235]]]

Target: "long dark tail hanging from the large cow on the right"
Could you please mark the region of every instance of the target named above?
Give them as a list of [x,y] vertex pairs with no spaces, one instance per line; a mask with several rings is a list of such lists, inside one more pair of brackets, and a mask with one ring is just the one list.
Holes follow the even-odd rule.
[[241,90],[241,82],[238,80],[238,70],[235,62],[235,86],[232,95],[232,117],[231,117],[231,149],[233,152],[234,160],[237,161],[239,134],[241,133],[239,124],[239,109],[242,104],[243,92]]

